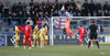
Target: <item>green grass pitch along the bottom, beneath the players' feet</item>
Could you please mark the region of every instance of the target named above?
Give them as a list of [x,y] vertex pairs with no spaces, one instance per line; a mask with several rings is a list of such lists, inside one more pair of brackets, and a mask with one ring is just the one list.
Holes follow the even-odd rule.
[[87,45],[58,45],[45,48],[23,49],[23,47],[14,48],[13,46],[0,46],[0,56],[110,56],[110,45],[101,45],[88,49]]

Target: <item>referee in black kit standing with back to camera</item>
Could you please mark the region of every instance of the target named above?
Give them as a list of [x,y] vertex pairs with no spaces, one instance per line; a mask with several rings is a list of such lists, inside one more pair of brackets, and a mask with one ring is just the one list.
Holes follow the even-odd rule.
[[95,24],[95,21],[91,21],[91,25],[89,26],[88,33],[90,35],[90,41],[88,43],[88,48],[91,45],[91,42],[96,42],[98,48],[99,48],[99,43],[98,43],[98,26]]

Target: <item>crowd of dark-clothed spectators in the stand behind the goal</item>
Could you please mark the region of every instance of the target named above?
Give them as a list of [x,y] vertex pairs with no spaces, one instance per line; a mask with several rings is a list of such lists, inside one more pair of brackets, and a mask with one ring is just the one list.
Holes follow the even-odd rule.
[[[95,3],[92,0],[89,3],[88,0],[81,4],[80,1],[75,2],[74,0],[59,3],[57,0],[55,2],[33,2],[30,3],[18,2],[13,5],[7,3],[3,5],[0,2],[0,18],[9,18],[9,24],[11,21],[21,22],[20,19],[11,18],[31,18],[36,23],[36,20],[43,20],[51,16],[64,16],[65,12],[69,12],[72,16],[109,16],[110,15],[110,4],[108,1],[102,5],[100,2]],[[62,10],[62,8],[65,8]],[[26,20],[24,20],[26,21]],[[45,21],[45,20],[44,20]]]

